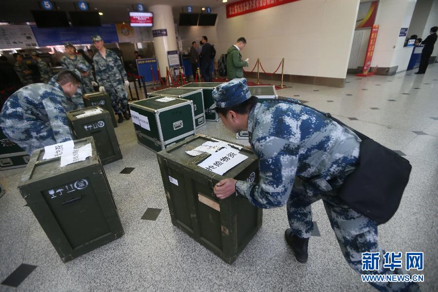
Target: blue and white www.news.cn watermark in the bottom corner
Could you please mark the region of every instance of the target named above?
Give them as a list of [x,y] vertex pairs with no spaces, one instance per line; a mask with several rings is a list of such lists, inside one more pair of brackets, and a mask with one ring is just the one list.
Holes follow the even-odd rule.
[[[383,268],[394,271],[402,269],[402,253],[388,252],[383,255]],[[423,271],[424,258],[422,252],[407,252],[405,269]],[[379,271],[380,253],[362,253],[362,271]],[[424,282],[423,274],[362,274],[363,282]]]

